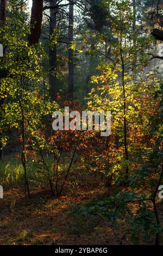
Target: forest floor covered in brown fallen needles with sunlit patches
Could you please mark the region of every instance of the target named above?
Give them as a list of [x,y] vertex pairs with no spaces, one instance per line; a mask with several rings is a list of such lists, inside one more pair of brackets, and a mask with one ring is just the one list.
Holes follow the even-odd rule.
[[[0,199],[0,245],[132,245],[125,220],[115,228],[104,220],[85,219],[79,223],[68,214],[72,203],[106,196],[103,187],[94,174],[87,175],[73,192],[65,190],[60,198],[30,186],[30,199],[25,200],[22,186],[4,187],[4,199]],[[158,209],[163,220],[163,205]],[[140,237],[139,243],[153,245],[154,237],[150,241]]]

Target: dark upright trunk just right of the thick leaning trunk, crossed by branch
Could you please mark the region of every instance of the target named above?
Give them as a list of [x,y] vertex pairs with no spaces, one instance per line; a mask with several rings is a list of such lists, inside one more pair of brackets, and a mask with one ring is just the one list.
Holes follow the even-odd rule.
[[[50,0],[50,7],[57,5],[57,0]],[[49,35],[51,36],[54,29],[57,27],[57,11],[58,9],[51,9],[51,19],[49,23]],[[56,62],[57,62],[57,45],[54,45],[53,49],[49,48],[49,66],[51,69],[51,74],[49,76],[49,84],[51,85],[51,99],[55,100],[57,94],[57,76],[56,76]],[[52,74],[52,72],[54,72]]]

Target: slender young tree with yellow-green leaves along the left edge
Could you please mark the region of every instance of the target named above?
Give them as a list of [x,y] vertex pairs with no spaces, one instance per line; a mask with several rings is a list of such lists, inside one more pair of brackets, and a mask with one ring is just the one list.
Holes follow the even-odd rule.
[[[24,40],[30,28],[26,22],[22,23],[20,4],[12,1],[10,5],[8,23],[1,28],[2,39],[9,51],[5,54],[3,63],[8,70],[8,76],[1,80],[0,95],[1,99],[5,98],[7,102],[5,102],[5,112],[3,106],[0,123],[3,129],[15,127],[20,132],[24,194],[29,196],[28,148],[33,147],[32,138],[43,125],[43,115],[45,117],[51,114],[52,108],[54,110],[56,105],[47,97],[46,77],[48,76],[43,69],[46,54],[41,45],[35,48],[34,45],[29,45],[28,41]],[[4,135],[3,139],[6,140],[7,137]]]

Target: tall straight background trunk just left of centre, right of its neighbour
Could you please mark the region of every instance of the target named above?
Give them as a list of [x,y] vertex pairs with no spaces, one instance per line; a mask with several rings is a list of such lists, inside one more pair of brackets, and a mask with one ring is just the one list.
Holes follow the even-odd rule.
[[[73,1],[69,1],[72,3]],[[73,49],[70,48],[73,41],[73,4],[69,5],[69,27],[68,27],[68,98],[73,99],[74,87],[74,62]]]

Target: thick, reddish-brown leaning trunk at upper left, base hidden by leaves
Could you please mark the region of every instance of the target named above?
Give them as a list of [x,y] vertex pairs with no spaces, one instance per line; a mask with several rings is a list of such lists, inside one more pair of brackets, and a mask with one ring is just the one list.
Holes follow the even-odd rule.
[[39,42],[41,35],[42,15],[43,0],[33,0],[30,18],[30,34],[28,35],[29,45],[34,45]]

